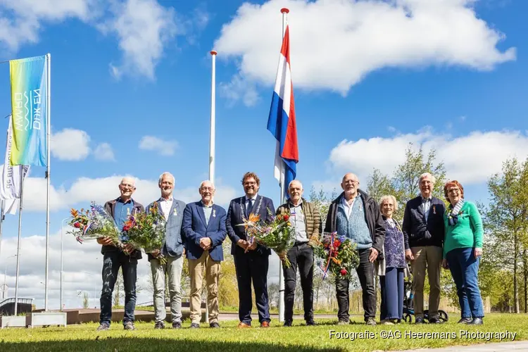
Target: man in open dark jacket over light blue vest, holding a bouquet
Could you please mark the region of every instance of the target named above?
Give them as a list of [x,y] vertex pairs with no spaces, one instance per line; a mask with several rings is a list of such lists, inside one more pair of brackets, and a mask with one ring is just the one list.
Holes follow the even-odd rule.
[[[325,232],[335,232],[356,243],[359,255],[359,282],[363,290],[363,309],[367,325],[376,325],[374,261],[382,253],[385,227],[377,202],[359,189],[359,180],[349,172],[341,182],[341,193],[328,208]],[[339,325],[348,324],[348,279],[336,277]]]

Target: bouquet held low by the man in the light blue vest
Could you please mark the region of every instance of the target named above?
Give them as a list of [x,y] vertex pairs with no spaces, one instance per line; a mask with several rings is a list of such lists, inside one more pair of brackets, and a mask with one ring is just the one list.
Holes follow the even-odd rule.
[[350,277],[350,270],[359,265],[359,256],[356,244],[344,236],[338,236],[337,232],[325,232],[314,254],[319,260],[319,268],[322,270],[323,279],[327,277],[330,270],[337,277]]

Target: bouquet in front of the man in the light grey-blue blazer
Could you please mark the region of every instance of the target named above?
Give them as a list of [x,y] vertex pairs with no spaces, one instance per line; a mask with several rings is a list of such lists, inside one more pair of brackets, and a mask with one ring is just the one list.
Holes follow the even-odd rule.
[[[165,242],[165,224],[158,203],[154,203],[149,213],[138,213],[128,218],[122,227],[123,241],[132,244],[135,249],[144,249],[145,253],[161,250]],[[161,264],[167,262],[161,254],[158,260]]]

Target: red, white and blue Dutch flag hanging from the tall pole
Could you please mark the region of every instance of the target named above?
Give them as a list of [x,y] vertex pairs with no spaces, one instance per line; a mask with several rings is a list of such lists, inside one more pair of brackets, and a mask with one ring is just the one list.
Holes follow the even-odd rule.
[[[284,191],[295,180],[298,163],[297,127],[295,123],[294,86],[289,65],[289,27],[286,27],[280,49],[277,79],[271,100],[268,131],[277,139],[274,175]],[[282,196],[285,196],[283,194]],[[282,201],[282,199],[281,199]]]

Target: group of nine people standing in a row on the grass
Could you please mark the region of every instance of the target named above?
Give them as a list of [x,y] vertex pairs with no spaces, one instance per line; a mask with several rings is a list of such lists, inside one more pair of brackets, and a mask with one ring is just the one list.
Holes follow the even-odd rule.
[[[394,324],[403,318],[403,279],[407,275],[407,260],[413,270],[415,322],[423,323],[423,287],[425,273],[431,287],[429,294],[429,323],[441,322],[438,316],[441,265],[449,268],[460,298],[460,323],[482,324],[484,312],[477,273],[482,256],[482,221],[473,203],[463,198],[463,187],[456,181],[444,186],[450,205],[432,196],[434,177],[425,173],[420,177],[420,196],[406,204],[403,225],[392,218],[397,210],[396,198],[383,196],[377,202],[359,189],[359,180],[353,173],[344,175],[343,192],[329,206],[325,232],[337,232],[356,244],[360,258],[358,278],[363,291],[364,318],[367,325],[376,325],[375,275],[380,277],[382,303],[380,320]],[[250,241],[243,226],[251,213],[260,215],[260,221],[270,222],[275,213],[289,215],[295,229],[295,244],[287,253],[291,267],[284,272],[284,326],[293,323],[294,292],[297,270],[303,291],[304,320],[316,325],[313,319],[313,248],[322,234],[320,210],[303,198],[303,185],[298,180],[288,185],[289,199],[275,211],[271,199],[258,194],[260,180],[253,172],[246,172],[241,184],[244,196],[233,199],[225,210],[213,202],[215,186],[203,181],[199,186],[199,201],[185,204],[173,198],[175,178],[164,172],[158,186],[161,197],[146,209],[132,199],[136,190],[134,179],[124,177],[119,184],[120,196],[108,201],[106,210],[119,228],[130,215],[149,212],[155,203],[167,221],[163,247],[147,253],[151,265],[155,308],[155,329],[165,328],[165,287],[170,296],[172,328],[182,327],[182,294],[180,281],[184,256],[188,260],[190,287],[191,328],[201,322],[201,289],[205,277],[209,326],[220,327],[218,322],[218,281],[220,263],[224,259],[222,243],[231,241],[231,254],[237,273],[239,291],[239,328],[251,327],[251,285],[260,327],[270,327],[268,301],[268,268],[270,249]],[[242,225],[242,226],[241,226]],[[118,270],[122,268],[125,289],[125,329],[134,329],[136,304],[137,260],[139,250],[125,245],[121,251],[111,239],[100,238],[103,253],[103,288],[99,330],[110,328],[112,292]],[[160,256],[163,256],[162,264]],[[168,280],[165,285],[165,279]],[[339,306],[339,325],[348,324],[349,280],[336,277]]]

